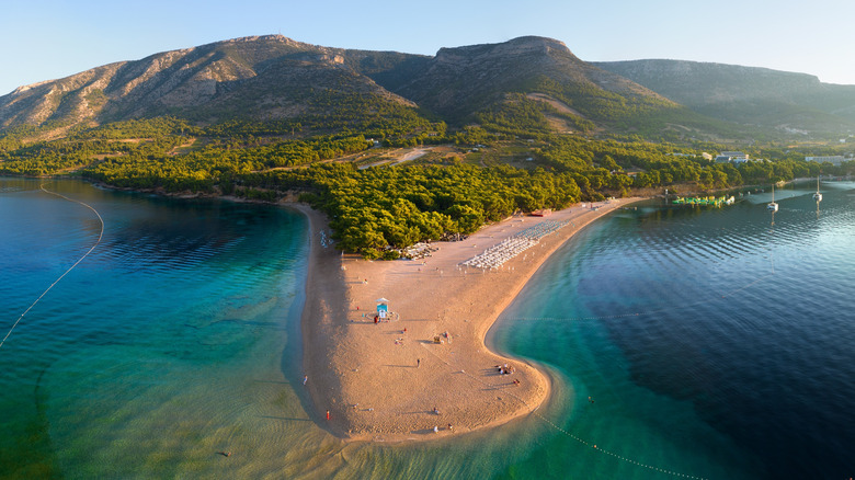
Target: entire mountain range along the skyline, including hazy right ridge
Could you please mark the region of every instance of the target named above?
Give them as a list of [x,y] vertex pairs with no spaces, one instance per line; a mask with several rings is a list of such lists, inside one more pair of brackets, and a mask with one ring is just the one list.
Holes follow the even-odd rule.
[[442,48],[430,57],[267,35],[105,65],[0,96],[0,134],[35,127],[41,138],[58,138],[167,115],[197,126],[285,121],[289,132],[316,134],[444,121],[509,135],[715,139],[757,132],[744,125],[785,134],[855,128],[855,87],[715,64],[591,64],[537,36]]

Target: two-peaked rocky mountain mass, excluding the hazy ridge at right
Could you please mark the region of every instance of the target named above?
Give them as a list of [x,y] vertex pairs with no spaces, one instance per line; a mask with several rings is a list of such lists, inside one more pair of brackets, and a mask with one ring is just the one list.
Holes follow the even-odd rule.
[[0,128],[32,125],[61,136],[75,126],[161,115],[201,125],[301,119],[337,115],[356,96],[361,104],[371,99],[368,107],[375,111],[404,115],[401,108],[408,108],[407,115],[506,128],[526,108],[540,118],[538,128],[560,130],[612,128],[639,115],[685,111],[580,60],[550,38],[443,48],[428,57],[270,35],[160,53],[21,87],[0,96]]

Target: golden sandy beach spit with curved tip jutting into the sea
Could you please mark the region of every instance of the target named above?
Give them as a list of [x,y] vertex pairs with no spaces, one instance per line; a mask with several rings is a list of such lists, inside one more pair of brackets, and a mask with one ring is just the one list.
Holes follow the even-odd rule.
[[[311,243],[301,319],[304,388],[319,424],[347,439],[418,441],[536,410],[548,398],[548,377],[489,351],[487,332],[556,249],[638,199],[512,217],[464,241],[432,243],[438,250],[431,256],[390,262],[342,255],[329,242],[326,217],[297,205],[309,218]],[[557,225],[498,268],[463,265],[525,229]],[[391,319],[375,322],[380,298],[389,300]],[[505,365],[510,373],[503,374]]]

